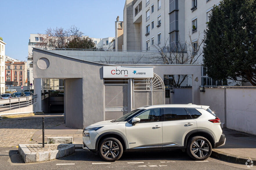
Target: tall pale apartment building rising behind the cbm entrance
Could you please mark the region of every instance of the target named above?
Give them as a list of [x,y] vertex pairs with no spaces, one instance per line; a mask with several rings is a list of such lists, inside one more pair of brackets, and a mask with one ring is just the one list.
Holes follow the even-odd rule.
[[[156,51],[156,47],[197,49],[209,14],[220,0],[126,0],[124,50]],[[189,49],[190,48],[190,49]],[[200,47],[202,48],[202,46]],[[203,55],[198,62],[202,63]],[[202,85],[227,85],[212,80],[202,67]]]

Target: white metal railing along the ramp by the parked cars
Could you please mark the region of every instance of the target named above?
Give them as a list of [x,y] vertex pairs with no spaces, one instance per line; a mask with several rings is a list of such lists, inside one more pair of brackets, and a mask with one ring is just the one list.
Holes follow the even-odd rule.
[[37,102],[37,95],[0,99],[0,112],[27,107]]

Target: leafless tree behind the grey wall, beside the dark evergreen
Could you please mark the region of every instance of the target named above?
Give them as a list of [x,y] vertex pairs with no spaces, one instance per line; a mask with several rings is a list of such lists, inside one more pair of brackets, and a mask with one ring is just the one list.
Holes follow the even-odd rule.
[[[196,41],[192,41],[189,33],[189,41],[181,43],[181,40],[177,44],[171,44],[167,39],[163,46],[153,45],[157,54],[153,54],[149,59],[152,62],[160,62],[162,64],[200,64],[199,57],[202,55],[201,46],[203,45],[203,39],[200,39],[200,32]],[[164,78],[168,80],[169,86],[179,87],[186,79],[188,75],[165,75]]]

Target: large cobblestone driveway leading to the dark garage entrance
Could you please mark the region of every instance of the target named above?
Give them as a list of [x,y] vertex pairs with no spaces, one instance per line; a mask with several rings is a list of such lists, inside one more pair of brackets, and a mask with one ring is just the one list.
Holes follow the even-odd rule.
[[[64,118],[44,119],[44,128],[64,123]],[[18,144],[32,144],[31,137],[42,129],[42,119],[0,120],[0,147],[13,147]]]

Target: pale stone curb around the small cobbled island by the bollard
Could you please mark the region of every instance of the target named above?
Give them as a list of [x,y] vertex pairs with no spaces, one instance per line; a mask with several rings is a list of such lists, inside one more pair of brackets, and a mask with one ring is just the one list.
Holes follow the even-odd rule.
[[[64,145],[64,147],[60,149],[53,149],[53,150],[41,151],[41,152],[31,152],[26,145],[28,144],[19,144],[19,147],[18,147],[19,155],[23,158],[25,163],[42,162],[42,161],[62,158],[64,156],[71,155],[75,152],[75,144],[57,144],[57,145]],[[41,144],[34,144],[34,145],[38,145],[38,147],[42,147]],[[56,145],[56,144],[46,144],[46,145]]]

